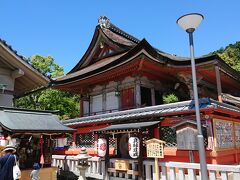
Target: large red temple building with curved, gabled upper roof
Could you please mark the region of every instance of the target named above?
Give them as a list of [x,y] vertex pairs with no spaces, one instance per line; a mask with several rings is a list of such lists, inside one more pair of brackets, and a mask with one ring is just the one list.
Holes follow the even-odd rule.
[[[196,70],[207,162],[238,164],[240,73],[217,55],[196,58]],[[150,138],[166,142],[163,161],[199,162],[188,57],[162,52],[103,16],[83,57],[53,87],[81,95],[80,117],[64,124],[77,130],[74,143],[90,154],[96,155],[96,141],[104,137],[107,161],[131,159],[127,142],[137,136],[139,167]],[[164,104],[169,94],[179,102]]]

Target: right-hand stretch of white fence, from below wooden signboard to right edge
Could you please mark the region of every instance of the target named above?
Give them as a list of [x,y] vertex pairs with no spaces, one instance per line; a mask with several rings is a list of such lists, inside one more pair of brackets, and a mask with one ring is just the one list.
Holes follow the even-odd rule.
[[[146,180],[155,179],[154,161],[144,161]],[[196,180],[201,179],[200,164],[182,162],[160,162],[162,180]],[[240,180],[240,165],[207,165],[209,180]],[[198,174],[199,173],[199,174]]]

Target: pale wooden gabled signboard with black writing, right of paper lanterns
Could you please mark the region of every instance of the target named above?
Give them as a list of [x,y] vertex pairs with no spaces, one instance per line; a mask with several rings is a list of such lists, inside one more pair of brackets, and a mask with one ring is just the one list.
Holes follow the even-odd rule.
[[147,157],[150,158],[163,158],[163,145],[165,141],[153,138],[146,141],[147,145]]

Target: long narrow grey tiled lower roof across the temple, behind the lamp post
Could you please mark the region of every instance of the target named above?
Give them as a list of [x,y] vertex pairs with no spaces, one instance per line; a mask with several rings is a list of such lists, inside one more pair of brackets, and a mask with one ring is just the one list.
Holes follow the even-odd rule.
[[[221,108],[221,109],[240,113],[240,109],[235,106],[231,106],[225,103],[220,103],[218,101],[215,101],[209,98],[200,99],[199,103],[200,103],[199,105],[200,109]],[[70,120],[63,121],[63,124],[67,126],[73,126],[73,125],[83,125],[83,124],[97,123],[97,122],[114,122],[114,121],[124,121],[124,120],[132,120],[132,119],[134,120],[139,118],[161,117],[161,116],[163,117],[163,116],[171,115],[173,113],[176,114],[176,113],[183,113],[183,112],[190,112],[190,111],[194,111],[194,101],[192,100],[70,119]]]

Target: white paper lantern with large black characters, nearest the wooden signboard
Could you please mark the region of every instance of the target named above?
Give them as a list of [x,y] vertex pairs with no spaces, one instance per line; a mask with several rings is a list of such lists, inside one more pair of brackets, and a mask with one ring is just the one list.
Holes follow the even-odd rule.
[[131,158],[138,158],[140,152],[140,140],[138,137],[128,139],[128,151]]

